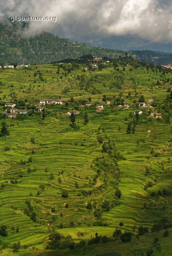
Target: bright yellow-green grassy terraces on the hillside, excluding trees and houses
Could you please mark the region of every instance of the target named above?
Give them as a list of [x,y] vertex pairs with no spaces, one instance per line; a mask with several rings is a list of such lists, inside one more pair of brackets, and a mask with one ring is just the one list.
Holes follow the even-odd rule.
[[[156,108],[150,108],[147,99],[154,99],[159,105],[162,104],[168,94],[167,88],[170,87],[170,82],[156,85],[157,80],[162,83],[162,72],[156,73],[151,69],[147,71],[145,68],[132,68],[130,71],[130,68],[131,66],[125,67],[123,71],[123,68],[119,67],[117,71],[109,66],[102,71],[84,73],[80,67],[71,71],[66,77],[62,74],[64,72],[62,68],[57,74],[57,66],[52,65],[38,65],[37,69],[36,66],[0,69],[0,81],[3,83],[0,86],[1,101],[13,102],[16,97],[18,100],[26,99],[26,104],[34,105],[38,104],[42,98],[59,96],[68,100],[73,96],[76,101],[88,100],[88,97],[91,97],[91,101],[100,101],[103,95],[118,97],[119,93],[123,92],[123,98],[130,104],[129,109],[105,105],[102,113],[96,113],[91,108],[78,107],[80,114],[76,115],[76,124],[80,126],[79,130],[71,128],[70,117],[63,115],[68,112],[68,109],[74,109],[73,105],[69,108],[45,106],[47,113],[45,120],[42,120],[39,115],[33,115],[24,120],[6,119],[10,135],[8,138],[0,137],[0,183],[5,184],[0,192],[0,225],[8,226],[8,236],[2,238],[3,241],[8,243],[20,241],[21,245],[27,244],[29,248],[35,246],[43,250],[43,244],[48,240],[52,230],[65,236],[71,235],[76,242],[79,242],[82,239],[90,239],[95,232],[111,237],[119,222],[124,223],[123,231],[131,231],[133,225],[147,226],[150,230],[161,217],[171,219],[172,147],[170,140],[172,133],[170,124],[162,120],[158,122],[153,118],[145,122],[150,118],[143,113],[139,117],[135,133],[126,133],[128,122],[134,117],[133,111],[137,109],[133,101],[138,101],[139,96],[144,95],[147,107],[142,108],[142,111],[146,112],[150,109],[158,111]],[[41,71],[44,81],[39,79],[39,74],[33,76],[38,70]],[[100,94],[91,94],[84,88],[81,89],[79,81],[76,80],[78,74],[84,74],[85,81],[92,78],[91,85],[100,90]],[[62,78],[60,78],[61,75]],[[124,78],[121,89],[110,88],[110,85],[117,81],[117,75]],[[166,74],[165,77],[171,79],[170,74]],[[70,90],[67,93],[64,92],[66,87]],[[127,98],[129,91],[131,97]],[[2,106],[0,110],[3,111]],[[87,126],[84,125],[86,110],[89,117]],[[0,127],[3,121],[4,119],[0,120]],[[99,128],[101,128],[100,131]],[[151,132],[148,133],[148,130]],[[88,202],[97,202],[99,205],[115,193],[115,189],[113,190],[109,185],[104,190],[96,190],[104,183],[104,176],[100,175],[95,184],[91,183],[96,175],[94,168],[96,157],[103,156],[105,161],[111,161],[107,153],[101,152],[102,144],[97,141],[98,135],[105,138],[105,141],[111,138],[115,142],[117,151],[123,156],[123,159],[118,160],[120,169],[118,188],[122,194],[120,204],[102,213],[102,219],[108,223],[108,227],[90,226],[89,223],[94,222],[96,217],[93,215],[94,210],[86,209]],[[31,138],[35,139],[34,144],[31,143]],[[82,143],[84,146],[81,145]],[[4,151],[5,146],[10,147],[10,150]],[[33,150],[34,154],[32,154]],[[159,155],[155,157],[150,154],[151,150]],[[29,157],[32,157],[31,162],[27,162]],[[21,159],[26,161],[25,165],[20,164]],[[146,167],[151,169],[147,176],[144,175]],[[27,171],[28,168],[31,168],[30,173]],[[22,177],[18,177],[20,172]],[[49,180],[51,173],[55,177],[53,180]],[[16,184],[9,183],[16,177],[18,177]],[[58,181],[59,177],[62,180],[61,183]],[[114,178],[111,176],[111,179]],[[144,190],[147,181],[153,182],[154,186]],[[41,184],[45,184],[44,191],[39,189]],[[152,192],[158,193],[164,188],[168,191],[168,196],[151,196]],[[61,197],[61,191],[64,189],[69,193],[68,198]],[[95,189],[95,192],[87,197],[78,195],[83,189],[86,191]],[[37,195],[38,190],[40,195]],[[26,199],[30,200],[34,212],[37,213],[39,220],[37,223],[24,214]],[[68,208],[65,207],[66,203],[69,204]],[[146,207],[144,207],[145,204]],[[163,210],[164,204],[166,204],[166,210]],[[55,212],[52,212],[52,207],[55,208]],[[60,213],[63,216],[60,216]],[[59,229],[60,223],[68,226],[71,221],[74,222],[75,227]],[[12,225],[15,226],[15,230],[11,229]],[[19,232],[16,232],[17,226]],[[78,231],[84,232],[85,235],[78,238]],[[169,231],[172,236],[172,231],[170,229]],[[170,237],[165,240],[162,234],[163,230],[157,235],[161,239],[162,252],[157,252],[156,255],[170,255],[172,253]],[[143,236],[140,241],[134,238],[133,248],[130,248],[131,244],[121,244],[120,240],[117,240],[115,245],[110,244],[107,252],[140,255],[140,249],[150,247],[154,237],[155,234],[153,236],[150,234],[149,239]],[[98,255],[102,250],[103,245],[100,244],[94,248],[86,248],[85,254]],[[3,255],[12,255],[11,252],[11,249],[5,249]],[[43,253],[43,251],[40,252]],[[72,254],[68,251],[66,254],[56,255],[81,255],[80,253],[81,251]],[[20,255],[32,255],[32,252],[22,251]]]

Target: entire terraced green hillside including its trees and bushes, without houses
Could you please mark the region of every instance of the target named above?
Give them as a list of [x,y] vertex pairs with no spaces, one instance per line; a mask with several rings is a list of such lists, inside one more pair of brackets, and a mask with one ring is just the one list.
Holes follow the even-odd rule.
[[[127,56],[98,65],[0,69],[1,112],[28,109],[0,114],[2,255],[171,254],[171,72]],[[69,104],[35,110],[59,97]],[[84,106],[102,99],[102,112]]]

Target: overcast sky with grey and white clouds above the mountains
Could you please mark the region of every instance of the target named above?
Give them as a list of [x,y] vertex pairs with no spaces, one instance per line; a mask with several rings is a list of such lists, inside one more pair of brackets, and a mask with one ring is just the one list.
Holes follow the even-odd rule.
[[0,16],[14,15],[57,17],[30,22],[32,35],[48,31],[82,42],[112,35],[172,40],[171,0],[1,0]]

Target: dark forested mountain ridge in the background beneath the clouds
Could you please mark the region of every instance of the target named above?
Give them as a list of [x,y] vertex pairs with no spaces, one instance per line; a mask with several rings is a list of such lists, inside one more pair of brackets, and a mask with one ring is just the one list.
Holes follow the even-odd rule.
[[[0,23],[0,65],[51,63],[66,58],[77,58],[83,54],[116,58],[126,53],[126,51],[93,47],[86,43],[78,44],[69,39],[55,37],[48,32],[28,38],[27,25],[25,22],[11,23],[8,19]],[[23,34],[26,37],[22,36]],[[171,54],[164,55],[147,50],[129,51],[128,54],[141,61],[154,61],[155,65],[172,63]]]

